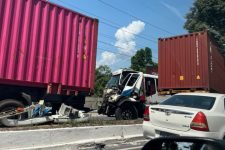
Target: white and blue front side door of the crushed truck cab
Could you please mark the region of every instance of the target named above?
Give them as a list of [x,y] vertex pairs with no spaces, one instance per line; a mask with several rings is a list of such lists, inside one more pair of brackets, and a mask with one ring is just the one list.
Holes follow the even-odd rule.
[[130,78],[127,80],[121,95],[130,97],[132,92],[139,94],[142,80],[143,73],[131,73]]

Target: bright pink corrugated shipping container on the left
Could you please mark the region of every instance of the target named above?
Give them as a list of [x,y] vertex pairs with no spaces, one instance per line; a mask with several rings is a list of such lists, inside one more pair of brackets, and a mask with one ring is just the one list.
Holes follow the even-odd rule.
[[0,0],[0,82],[93,89],[98,20],[44,0]]

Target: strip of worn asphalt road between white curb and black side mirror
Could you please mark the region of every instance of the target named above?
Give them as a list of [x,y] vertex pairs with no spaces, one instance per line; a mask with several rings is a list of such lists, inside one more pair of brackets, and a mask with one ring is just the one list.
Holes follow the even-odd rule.
[[78,150],[140,150],[149,140],[138,137],[79,145]]

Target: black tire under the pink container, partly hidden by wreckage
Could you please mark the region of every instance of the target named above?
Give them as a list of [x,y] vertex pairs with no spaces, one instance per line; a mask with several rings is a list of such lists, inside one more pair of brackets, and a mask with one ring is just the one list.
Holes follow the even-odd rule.
[[[24,107],[23,103],[13,99],[6,99],[6,100],[0,101],[0,112],[7,111],[10,109],[15,109],[18,107]],[[24,115],[20,115],[20,119],[22,119],[21,117],[24,118]],[[19,119],[19,118],[17,116],[17,117],[10,117],[10,119]],[[4,123],[2,124],[5,125]]]

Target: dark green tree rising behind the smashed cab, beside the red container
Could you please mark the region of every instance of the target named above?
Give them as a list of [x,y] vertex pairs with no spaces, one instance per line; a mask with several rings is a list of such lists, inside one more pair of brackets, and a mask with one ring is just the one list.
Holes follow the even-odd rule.
[[136,71],[146,72],[146,65],[157,65],[152,60],[152,50],[148,47],[140,49],[131,58],[131,68]]

